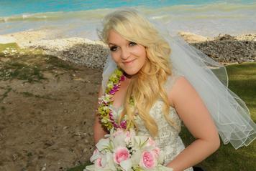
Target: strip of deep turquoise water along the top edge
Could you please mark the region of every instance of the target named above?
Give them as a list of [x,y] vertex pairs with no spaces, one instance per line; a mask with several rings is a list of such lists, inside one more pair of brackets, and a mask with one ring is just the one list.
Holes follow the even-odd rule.
[[163,7],[174,5],[199,5],[199,4],[214,4],[219,2],[250,4],[253,1],[214,1],[214,0],[173,0],[173,1],[109,1],[109,0],[1,0],[0,1],[0,16],[12,16],[19,14],[35,14],[53,11],[83,11],[92,9],[112,9],[120,6],[150,6]]

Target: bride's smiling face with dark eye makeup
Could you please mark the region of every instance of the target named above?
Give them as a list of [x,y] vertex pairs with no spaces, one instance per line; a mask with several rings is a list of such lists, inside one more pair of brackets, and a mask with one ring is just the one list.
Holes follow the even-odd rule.
[[147,54],[142,45],[127,41],[114,30],[109,31],[108,44],[112,59],[126,74],[137,74],[145,64]]

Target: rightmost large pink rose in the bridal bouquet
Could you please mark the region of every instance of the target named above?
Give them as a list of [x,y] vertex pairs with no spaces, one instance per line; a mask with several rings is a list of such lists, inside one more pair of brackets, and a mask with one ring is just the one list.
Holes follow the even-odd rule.
[[157,163],[155,159],[155,155],[152,152],[142,152],[142,159],[140,160],[141,167],[144,167],[146,169],[152,169],[154,168]]

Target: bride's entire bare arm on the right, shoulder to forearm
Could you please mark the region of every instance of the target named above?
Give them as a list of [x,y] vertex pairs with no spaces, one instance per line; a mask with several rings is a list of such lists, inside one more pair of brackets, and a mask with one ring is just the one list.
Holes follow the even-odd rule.
[[185,77],[176,80],[170,97],[180,119],[196,138],[167,165],[173,171],[180,171],[206,159],[219,148],[220,140],[208,109]]

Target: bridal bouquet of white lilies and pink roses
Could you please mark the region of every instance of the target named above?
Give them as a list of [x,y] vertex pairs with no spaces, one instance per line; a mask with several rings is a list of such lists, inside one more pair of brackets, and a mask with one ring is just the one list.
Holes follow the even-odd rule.
[[134,130],[111,130],[99,140],[90,158],[93,165],[83,171],[172,171],[163,166],[163,152],[151,137],[137,136]]

